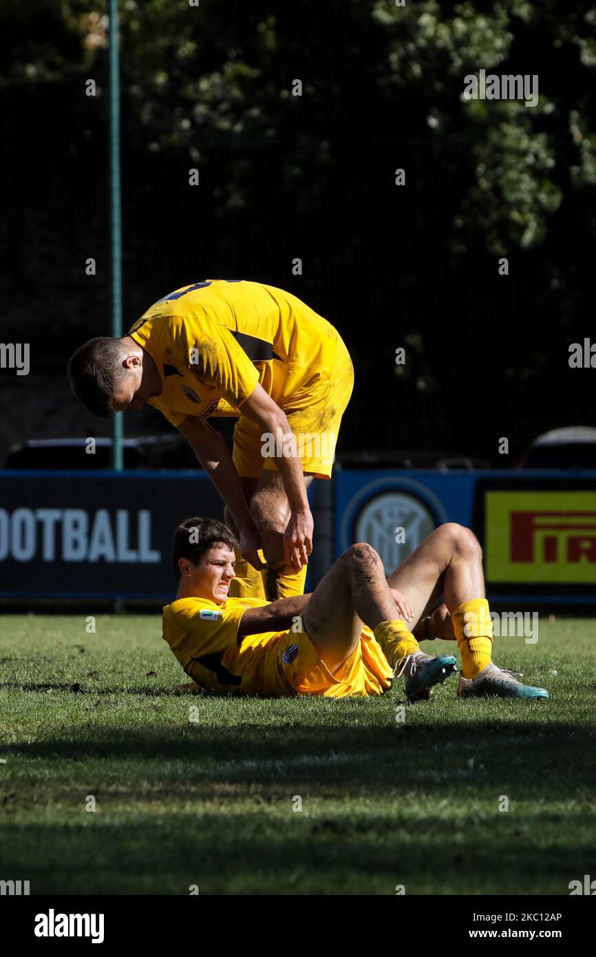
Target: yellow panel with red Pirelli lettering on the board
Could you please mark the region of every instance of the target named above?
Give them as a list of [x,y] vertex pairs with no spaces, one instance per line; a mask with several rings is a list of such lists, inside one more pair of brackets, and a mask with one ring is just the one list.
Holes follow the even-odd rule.
[[596,583],[596,491],[487,491],[487,579]]

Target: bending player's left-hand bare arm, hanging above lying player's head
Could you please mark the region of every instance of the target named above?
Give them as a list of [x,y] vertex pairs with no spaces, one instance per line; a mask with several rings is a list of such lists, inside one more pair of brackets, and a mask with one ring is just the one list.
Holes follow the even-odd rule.
[[257,554],[261,547],[260,536],[226,440],[205,419],[196,415],[189,415],[181,422],[178,431],[188,439],[198,461],[228,505],[238,529],[242,555],[254,568],[264,568]]

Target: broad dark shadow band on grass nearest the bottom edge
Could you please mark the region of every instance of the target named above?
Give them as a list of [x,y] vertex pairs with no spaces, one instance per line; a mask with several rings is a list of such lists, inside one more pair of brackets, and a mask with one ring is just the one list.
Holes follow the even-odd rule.
[[519,835],[513,815],[497,814],[482,840],[469,831],[467,843],[428,814],[409,830],[397,811],[340,813],[325,827],[289,803],[283,826],[224,808],[172,814],[159,826],[149,816],[121,826],[97,816],[93,826],[21,828],[3,854],[4,872],[26,873],[33,894],[188,894],[191,883],[201,894],[394,894],[397,883],[407,893],[568,894],[589,863],[579,841],[541,847],[538,827]]

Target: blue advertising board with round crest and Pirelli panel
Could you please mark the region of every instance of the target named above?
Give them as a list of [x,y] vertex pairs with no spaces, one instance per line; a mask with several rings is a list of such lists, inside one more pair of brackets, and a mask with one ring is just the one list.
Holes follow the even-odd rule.
[[338,470],[336,557],[373,545],[386,573],[437,525],[473,529],[489,598],[596,602],[596,472]]

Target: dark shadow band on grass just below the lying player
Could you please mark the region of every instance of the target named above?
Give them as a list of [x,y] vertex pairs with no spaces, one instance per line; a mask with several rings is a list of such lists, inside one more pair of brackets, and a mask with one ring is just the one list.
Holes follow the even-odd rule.
[[[593,787],[596,766],[585,747],[592,728],[527,720],[453,720],[443,724],[304,726],[299,722],[194,723],[113,727],[65,727],[63,736],[0,746],[4,757],[55,761],[105,759],[142,762],[151,777],[160,762],[182,762],[190,779],[226,784],[280,780],[338,781],[365,792],[381,788],[424,789],[441,785],[466,791],[496,782],[524,782],[540,797],[564,798]],[[471,763],[472,762],[472,763]]]

